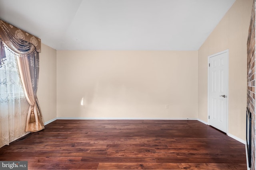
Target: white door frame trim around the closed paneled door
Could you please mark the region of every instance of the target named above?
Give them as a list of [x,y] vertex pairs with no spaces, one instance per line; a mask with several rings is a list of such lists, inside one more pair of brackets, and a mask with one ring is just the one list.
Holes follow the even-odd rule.
[[[208,97],[207,97],[207,100],[208,100],[208,106],[207,106],[207,124],[208,125],[210,125],[209,124],[209,116],[210,116],[210,67],[209,67],[209,63],[210,63],[210,58],[211,57],[214,57],[214,56],[217,56],[217,55],[220,55],[220,54],[223,54],[223,53],[227,53],[227,60],[228,60],[228,64],[227,64],[227,68],[226,68],[226,71],[227,71],[227,79],[229,79],[228,78],[228,66],[229,66],[229,50],[227,49],[227,50],[224,50],[224,51],[220,51],[220,52],[218,52],[218,53],[216,53],[216,54],[213,54],[213,55],[210,55],[210,56],[208,56],[208,83],[207,83],[207,91],[208,91]],[[227,112],[227,114],[226,114],[226,120],[227,120],[227,122],[226,122],[226,134],[228,135],[228,98],[229,98],[229,94],[228,94],[228,80],[227,80],[227,94],[226,94],[226,96],[227,96],[227,107],[226,107],[226,112]]]

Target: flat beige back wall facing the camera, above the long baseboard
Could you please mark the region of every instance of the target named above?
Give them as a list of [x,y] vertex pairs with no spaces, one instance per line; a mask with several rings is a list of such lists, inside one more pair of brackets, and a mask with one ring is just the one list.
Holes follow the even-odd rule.
[[57,51],[57,117],[197,118],[197,55]]

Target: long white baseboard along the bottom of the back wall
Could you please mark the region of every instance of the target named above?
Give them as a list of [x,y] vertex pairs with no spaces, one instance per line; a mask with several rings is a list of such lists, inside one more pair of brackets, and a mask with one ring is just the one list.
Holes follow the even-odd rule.
[[75,119],[75,120],[198,120],[195,118],[125,118],[125,117],[57,117],[56,119]]

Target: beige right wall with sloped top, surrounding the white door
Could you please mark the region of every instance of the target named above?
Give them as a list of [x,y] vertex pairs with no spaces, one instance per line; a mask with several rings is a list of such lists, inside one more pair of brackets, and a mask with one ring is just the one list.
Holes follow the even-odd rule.
[[207,122],[208,56],[229,49],[228,133],[246,140],[247,36],[252,0],[236,0],[198,50],[198,118]]

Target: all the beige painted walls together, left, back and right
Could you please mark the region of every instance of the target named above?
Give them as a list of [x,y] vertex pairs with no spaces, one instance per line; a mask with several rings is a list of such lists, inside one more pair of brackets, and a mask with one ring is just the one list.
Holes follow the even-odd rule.
[[252,0],[236,0],[198,52],[56,51],[42,45],[38,99],[45,121],[81,117],[207,122],[208,56],[229,49],[228,132],[245,140],[251,8]]

